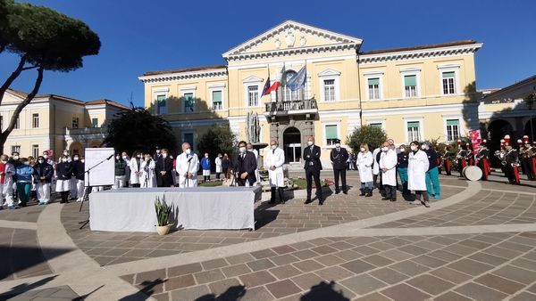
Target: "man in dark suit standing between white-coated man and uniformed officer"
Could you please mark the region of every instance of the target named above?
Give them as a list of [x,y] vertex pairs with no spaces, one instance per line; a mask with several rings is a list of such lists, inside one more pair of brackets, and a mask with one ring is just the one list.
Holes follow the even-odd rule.
[[304,150],[304,159],[306,160],[306,180],[307,180],[307,199],[305,204],[313,202],[311,199],[311,190],[316,186],[316,197],[318,198],[318,205],[323,205],[322,199],[322,185],[320,183],[320,171],[322,170],[322,163],[320,162],[320,147],[314,145],[314,137],[311,136],[307,139],[307,146]]

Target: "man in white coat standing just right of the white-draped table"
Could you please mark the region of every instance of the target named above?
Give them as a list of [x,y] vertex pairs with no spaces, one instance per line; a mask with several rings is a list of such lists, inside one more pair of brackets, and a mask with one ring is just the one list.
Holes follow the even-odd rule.
[[279,194],[281,203],[285,203],[284,187],[285,175],[283,175],[283,164],[285,163],[285,151],[281,150],[277,140],[270,142],[270,150],[267,151],[264,159],[264,168],[268,169],[268,182],[270,183],[270,204],[275,203],[275,189]]

